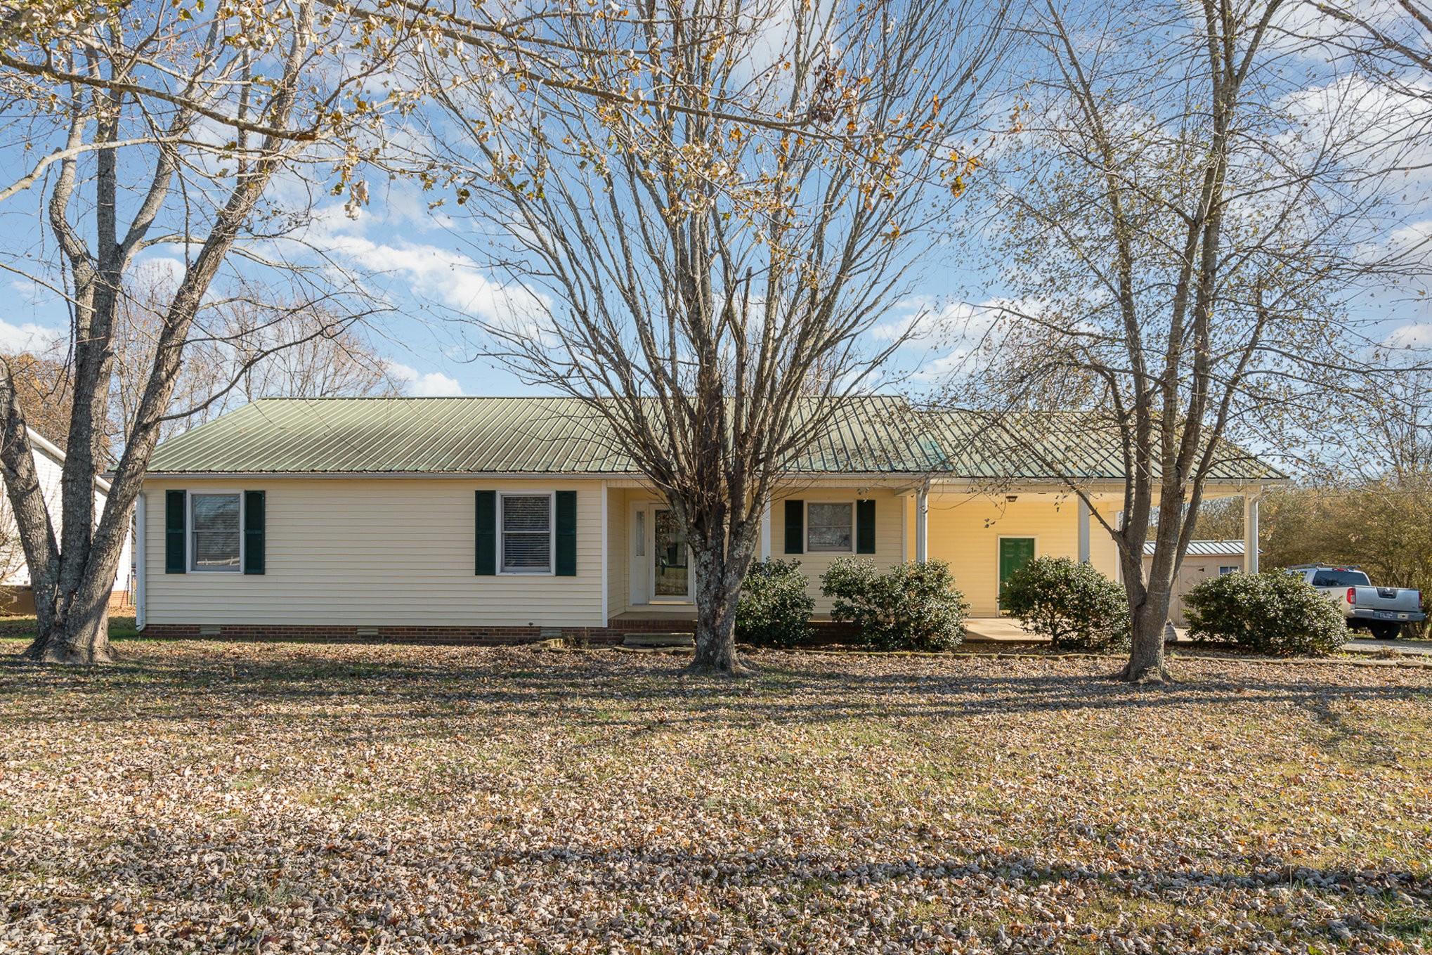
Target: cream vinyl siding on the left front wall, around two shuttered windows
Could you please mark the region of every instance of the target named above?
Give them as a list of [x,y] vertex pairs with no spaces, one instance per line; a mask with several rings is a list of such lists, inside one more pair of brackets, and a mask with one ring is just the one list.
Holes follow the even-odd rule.
[[[170,488],[266,491],[266,573],[163,573]],[[478,577],[478,490],[577,491],[577,576]],[[145,495],[147,623],[606,626],[597,481],[163,478],[146,481]]]

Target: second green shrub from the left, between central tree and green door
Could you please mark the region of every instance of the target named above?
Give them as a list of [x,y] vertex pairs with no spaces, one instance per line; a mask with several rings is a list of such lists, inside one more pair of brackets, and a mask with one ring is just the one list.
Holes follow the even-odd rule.
[[855,624],[855,640],[878,650],[949,650],[965,637],[969,604],[955,590],[949,564],[932,560],[891,567],[842,557],[821,576],[835,597],[831,616]]

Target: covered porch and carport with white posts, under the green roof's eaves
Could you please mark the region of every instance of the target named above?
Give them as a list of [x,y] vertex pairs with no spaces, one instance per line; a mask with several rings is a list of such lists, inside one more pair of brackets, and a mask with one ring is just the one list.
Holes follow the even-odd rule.
[[[1244,501],[1244,570],[1257,571],[1259,498],[1266,484],[1211,483],[1206,497]],[[1002,583],[1034,557],[1070,557],[1118,580],[1116,544],[1104,523],[1121,520],[1123,487],[1090,485],[1083,494],[1054,480],[1022,481],[998,490],[969,481],[836,478],[782,488],[762,517],[758,560],[799,560],[816,603],[816,621],[829,621],[831,601],[821,574],[842,556],[872,560],[882,570],[915,560],[944,560],[971,603],[974,620],[1001,617]],[[669,508],[637,481],[606,488],[607,614],[611,627],[653,627],[696,619],[684,541]],[[812,510],[818,505],[819,510]],[[815,515],[815,517],[813,517]],[[835,515],[833,518],[831,515]],[[1103,523],[1101,520],[1103,518]],[[831,534],[811,521],[849,521]],[[856,527],[868,520],[868,527]],[[856,543],[865,534],[868,540]],[[831,546],[833,541],[833,546]]]

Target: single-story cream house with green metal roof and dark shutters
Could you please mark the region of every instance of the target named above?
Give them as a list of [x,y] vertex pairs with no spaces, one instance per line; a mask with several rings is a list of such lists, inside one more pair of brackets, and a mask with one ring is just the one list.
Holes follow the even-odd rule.
[[[1054,460],[1116,520],[1117,442],[1080,415],[995,428],[845,402],[782,480],[760,554],[802,561],[818,616],[841,556],[949,561],[975,616],[998,614],[1001,580],[1035,554],[1113,577],[1114,543]],[[1207,494],[1244,495],[1256,525],[1280,480],[1232,452]],[[606,639],[695,619],[670,508],[573,399],[255,401],[156,448],[136,520],[146,633]]]

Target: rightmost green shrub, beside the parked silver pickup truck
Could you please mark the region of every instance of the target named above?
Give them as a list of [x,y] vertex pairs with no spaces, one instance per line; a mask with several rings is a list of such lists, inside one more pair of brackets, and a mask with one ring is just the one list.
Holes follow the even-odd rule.
[[1348,643],[1348,621],[1302,577],[1282,571],[1223,574],[1184,598],[1196,640],[1229,640],[1274,656],[1323,656]]

